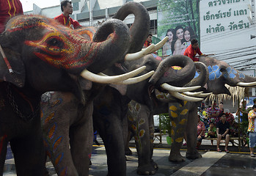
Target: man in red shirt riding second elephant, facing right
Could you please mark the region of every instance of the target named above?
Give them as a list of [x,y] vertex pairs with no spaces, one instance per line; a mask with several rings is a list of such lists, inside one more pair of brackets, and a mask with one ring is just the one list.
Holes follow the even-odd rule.
[[56,16],[54,20],[59,21],[64,26],[70,27],[71,29],[77,29],[82,27],[77,21],[70,18],[70,15],[73,13],[73,7],[71,1],[62,1],[60,4],[62,15]]

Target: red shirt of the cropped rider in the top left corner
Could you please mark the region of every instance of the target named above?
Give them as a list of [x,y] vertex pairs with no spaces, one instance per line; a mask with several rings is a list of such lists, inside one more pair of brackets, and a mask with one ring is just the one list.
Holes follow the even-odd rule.
[[15,15],[23,15],[21,1],[1,0],[0,2],[0,33],[4,32],[7,21]]

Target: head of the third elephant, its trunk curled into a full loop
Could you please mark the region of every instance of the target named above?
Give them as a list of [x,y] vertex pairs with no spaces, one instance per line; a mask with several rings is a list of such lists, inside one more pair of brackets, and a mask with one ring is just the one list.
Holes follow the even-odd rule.
[[[139,103],[146,103],[147,98],[152,98],[152,93],[155,89],[161,92],[167,92],[163,85],[170,84],[171,87],[183,87],[194,77],[196,72],[194,62],[187,56],[169,56],[167,59],[161,60],[161,57],[155,54],[149,54],[142,59],[136,60],[131,63],[130,69],[139,67],[140,65],[146,65],[145,71],[156,70],[151,76],[150,80],[142,81],[138,84],[128,86],[127,95],[132,100],[136,100]],[[172,66],[180,66],[180,70],[174,70]],[[142,72],[143,73],[143,72]],[[199,88],[199,87],[195,87]],[[136,94],[134,92],[143,92],[143,89],[147,89],[146,94]],[[192,89],[192,88],[189,88]],[[143,97],[144,96],[144,97]],[[144,102],[142,102],[142,100]],[[149,102],[149,101],[148,101]]]

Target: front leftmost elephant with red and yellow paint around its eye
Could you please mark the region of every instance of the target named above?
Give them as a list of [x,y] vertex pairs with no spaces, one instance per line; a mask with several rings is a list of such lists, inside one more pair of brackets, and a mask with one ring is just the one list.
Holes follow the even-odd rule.
[[[44,175],[40,97],[47,91],[68,91],[84,104],[79,74],[105,70],[125,56],[130,43],[122,21],[112,20],[106,26],[109,37],[98,43],[42,16],[22,15],[8,21],[0,35],[6,55],[0,56],[0,175],[8,142],[17,175]],[[111,26],[118,30],[111,32]]]

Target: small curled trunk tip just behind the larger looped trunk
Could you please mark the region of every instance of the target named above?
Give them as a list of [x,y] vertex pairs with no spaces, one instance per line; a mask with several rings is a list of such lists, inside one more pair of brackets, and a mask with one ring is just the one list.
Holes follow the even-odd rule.
[[199,70],[194,78],[186,84],[184,87],[204,86],[209,78],[209,72],[207,66],[202,62],[194,62],[196,68]]

